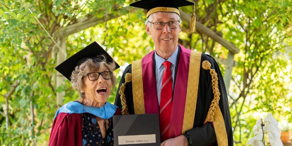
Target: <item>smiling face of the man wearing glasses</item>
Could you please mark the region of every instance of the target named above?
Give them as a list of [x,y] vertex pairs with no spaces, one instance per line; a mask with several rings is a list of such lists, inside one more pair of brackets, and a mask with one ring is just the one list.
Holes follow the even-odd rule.
[[153,24],[151,24],[150,27],[146,25],[146,32],[148,35],[151,35],[157,54],[160,57],[164,57],[164,54],[172,54],[177,48],[179,33],[182,29],[180,25],[178,28],[170,29],[167,22],[179,21],[177,14],[169,12],[155,12],[151,15],[152,23],[166,23],[162,30],[156,30]]

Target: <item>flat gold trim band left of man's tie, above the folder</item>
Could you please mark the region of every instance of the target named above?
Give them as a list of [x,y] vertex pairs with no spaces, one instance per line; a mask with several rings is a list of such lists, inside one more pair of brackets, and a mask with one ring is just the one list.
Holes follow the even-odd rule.
[[142,59],[132,63],[132,85],[135,114],[145,114]]

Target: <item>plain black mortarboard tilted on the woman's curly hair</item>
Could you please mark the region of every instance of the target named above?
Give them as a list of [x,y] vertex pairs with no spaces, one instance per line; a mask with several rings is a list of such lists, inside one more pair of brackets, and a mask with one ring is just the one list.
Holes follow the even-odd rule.
[[[93,61],[101,61],[101,59],[97,56],[102,54],[106,56],[107,62],[114,61],[113,58],[109,56],[109,54],[102,47],[100,47],[98,43],[93,42],[59,64],[55,69],[64,75],[69,81],[71,81],[70,76],[76,66],[81,65],[89,58],[91,58]],[[116,68],[114,70],[120,68],[120,65],[117,64],[116,61],[114,61],[114,63],[116,64]]]

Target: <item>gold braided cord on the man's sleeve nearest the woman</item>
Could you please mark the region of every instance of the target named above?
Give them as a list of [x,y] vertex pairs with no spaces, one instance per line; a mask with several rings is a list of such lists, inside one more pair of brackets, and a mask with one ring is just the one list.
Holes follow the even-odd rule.
[[128,82],[131,82],[132,81],[132,75],[130,73],[127,73],[125,75],[125,83],[123,83],[120,87],[120,91],[119,91],[119,94],[121,95],[121,101],[122,101],[122,114],[123,115],[128,115],[129,114],[129,111],[128,111],[128,106],[127,106],[127,101],[126,101],[126,96],[125,96],[125,89],[126,89],[126,84]]

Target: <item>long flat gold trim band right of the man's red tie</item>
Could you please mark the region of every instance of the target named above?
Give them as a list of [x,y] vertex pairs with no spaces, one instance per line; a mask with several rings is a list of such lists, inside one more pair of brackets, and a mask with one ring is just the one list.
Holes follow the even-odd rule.
[[186,104],[182,123],[182,134],[187,130],[192,129],[194,124],[200,77],[201,54],[201,52],[191,51],[189,59],[188,85],[186,89]]

